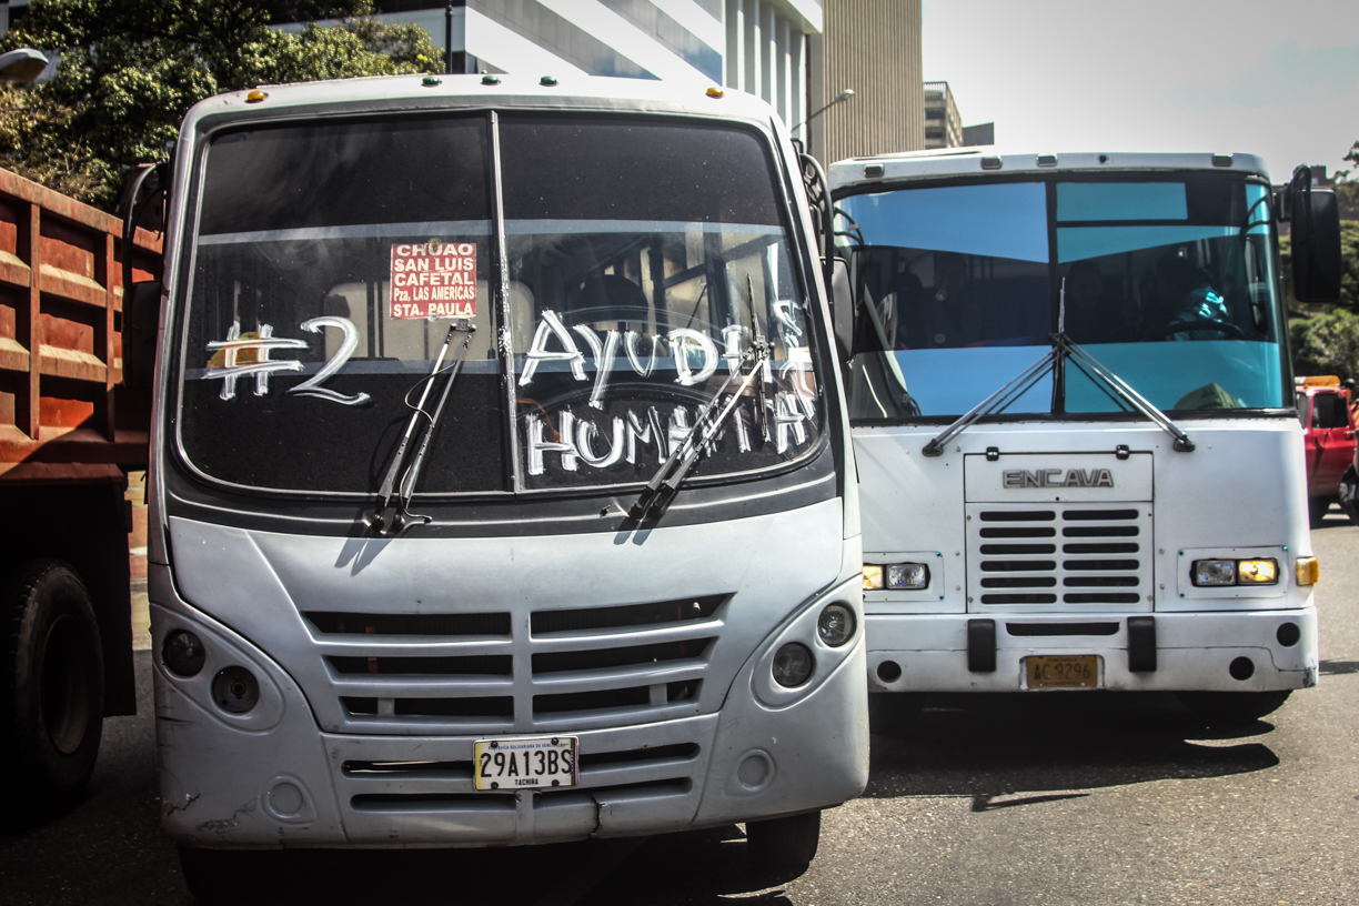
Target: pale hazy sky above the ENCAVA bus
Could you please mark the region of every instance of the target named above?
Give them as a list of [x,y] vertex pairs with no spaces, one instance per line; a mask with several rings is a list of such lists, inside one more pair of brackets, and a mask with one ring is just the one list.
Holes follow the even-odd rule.
[[923,0],[924,77],[1015,151],[1235,151],[1273,182],[1359,140],[1359,0]]

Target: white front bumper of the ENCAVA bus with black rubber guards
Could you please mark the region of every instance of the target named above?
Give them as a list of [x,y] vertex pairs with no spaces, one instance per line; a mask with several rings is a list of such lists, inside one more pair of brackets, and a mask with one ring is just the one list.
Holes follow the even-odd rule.
[[[1129,633],[1129,619],[1142,626]],[[875,693],[1034,691],[1025,659],[1074,655],[1094,656],[1093,687],[1113,691],[1271,691],[1317,685],[1314,606],[1155,614],[870,614],[866,622],[868,689]]]

